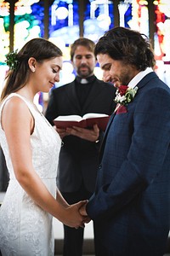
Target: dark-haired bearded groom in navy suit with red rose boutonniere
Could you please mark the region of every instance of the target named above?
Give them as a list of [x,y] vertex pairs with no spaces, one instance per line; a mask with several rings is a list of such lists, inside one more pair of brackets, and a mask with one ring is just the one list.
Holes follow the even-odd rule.
[[162,256],[170,219],[170,89],[153,71],[149,40],[139,32],[115,27],[94,54],[105,81],[117,87],[117,108],[94,195],[81,212],[94,220],[96,256]]

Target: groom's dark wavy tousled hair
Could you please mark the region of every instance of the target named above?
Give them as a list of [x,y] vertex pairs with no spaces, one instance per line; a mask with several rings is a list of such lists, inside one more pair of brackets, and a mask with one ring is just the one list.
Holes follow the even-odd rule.
[[94,55],[107,54],[113,60],[123,61],[144,71],[156,64],[149,39],[137,31],[117,26],[105,32],[94,48]]

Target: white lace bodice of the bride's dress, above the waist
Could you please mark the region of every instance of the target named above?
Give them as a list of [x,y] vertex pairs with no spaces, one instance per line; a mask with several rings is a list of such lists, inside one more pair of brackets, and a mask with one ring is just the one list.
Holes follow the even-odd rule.
[[[8,96],[8,98],[12,96],[19,96],[21,99],[23,99],[23,101],[26,102],[26,105],[30,109],[33,118],[35,119],[35,128],[31,135],[32,161],[35,170],[37,170],[38,175],[42,178],[56,177],[56,169],[54,169],[54,166],[57,166],[58,163],[56,152],[59,152],[61,144],[58,133],[54,131],[54,128],[48,123],[48,120],[45,119],[43,114],[39,112],[34,104],[28,102],[26,98],[16,93],[11,94]],[[5,100],[5,102],[8,100],[8,98]],[[3,102],[0,108],[0,118],[1,111],[5,102]],[[5,154],[10,178],[12,179],[14,178],[14,171],[8,154],[6,137],[1,125],[0,143]],[[54,166],[51,165],[51,163],[53,163]]]

